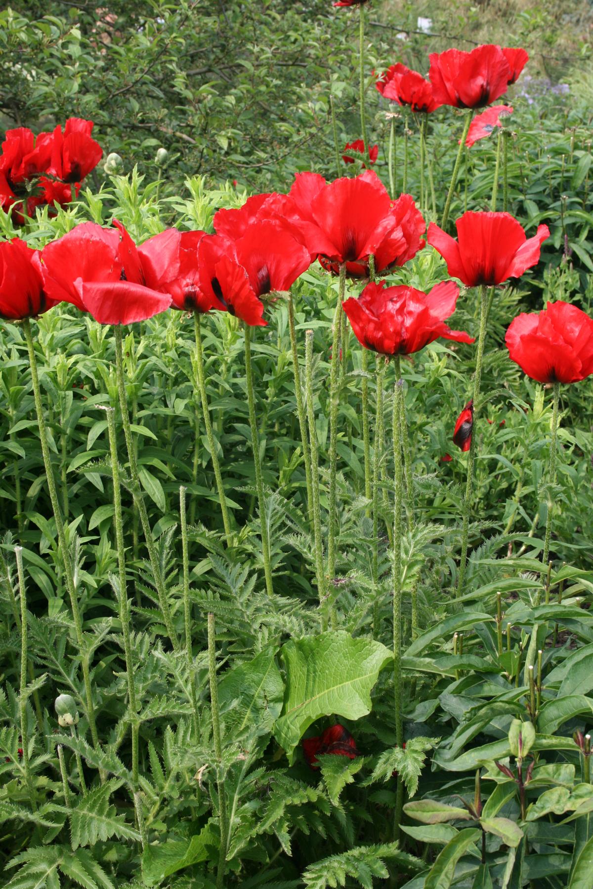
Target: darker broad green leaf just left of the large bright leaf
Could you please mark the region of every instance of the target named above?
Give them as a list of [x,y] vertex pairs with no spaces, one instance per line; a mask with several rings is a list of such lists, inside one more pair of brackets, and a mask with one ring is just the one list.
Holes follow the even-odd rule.
[[271,732],[280,716],[284,683],[274,654],[271,649],[260,652],[252,661],[228,670],[220,681],[220,711],[239,733],[248,728],[257,734]]

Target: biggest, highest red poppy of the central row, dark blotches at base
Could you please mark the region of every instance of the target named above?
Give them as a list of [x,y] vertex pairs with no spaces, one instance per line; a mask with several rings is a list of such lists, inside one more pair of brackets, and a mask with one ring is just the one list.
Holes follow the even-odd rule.
[[420,250],[424,220],[410,195],[391,201],[372,170],[352,179],[326,182],[318,173],[297,173],[290,195],[312,255],[338,274],[342,262],[351,277],[403,265]]

